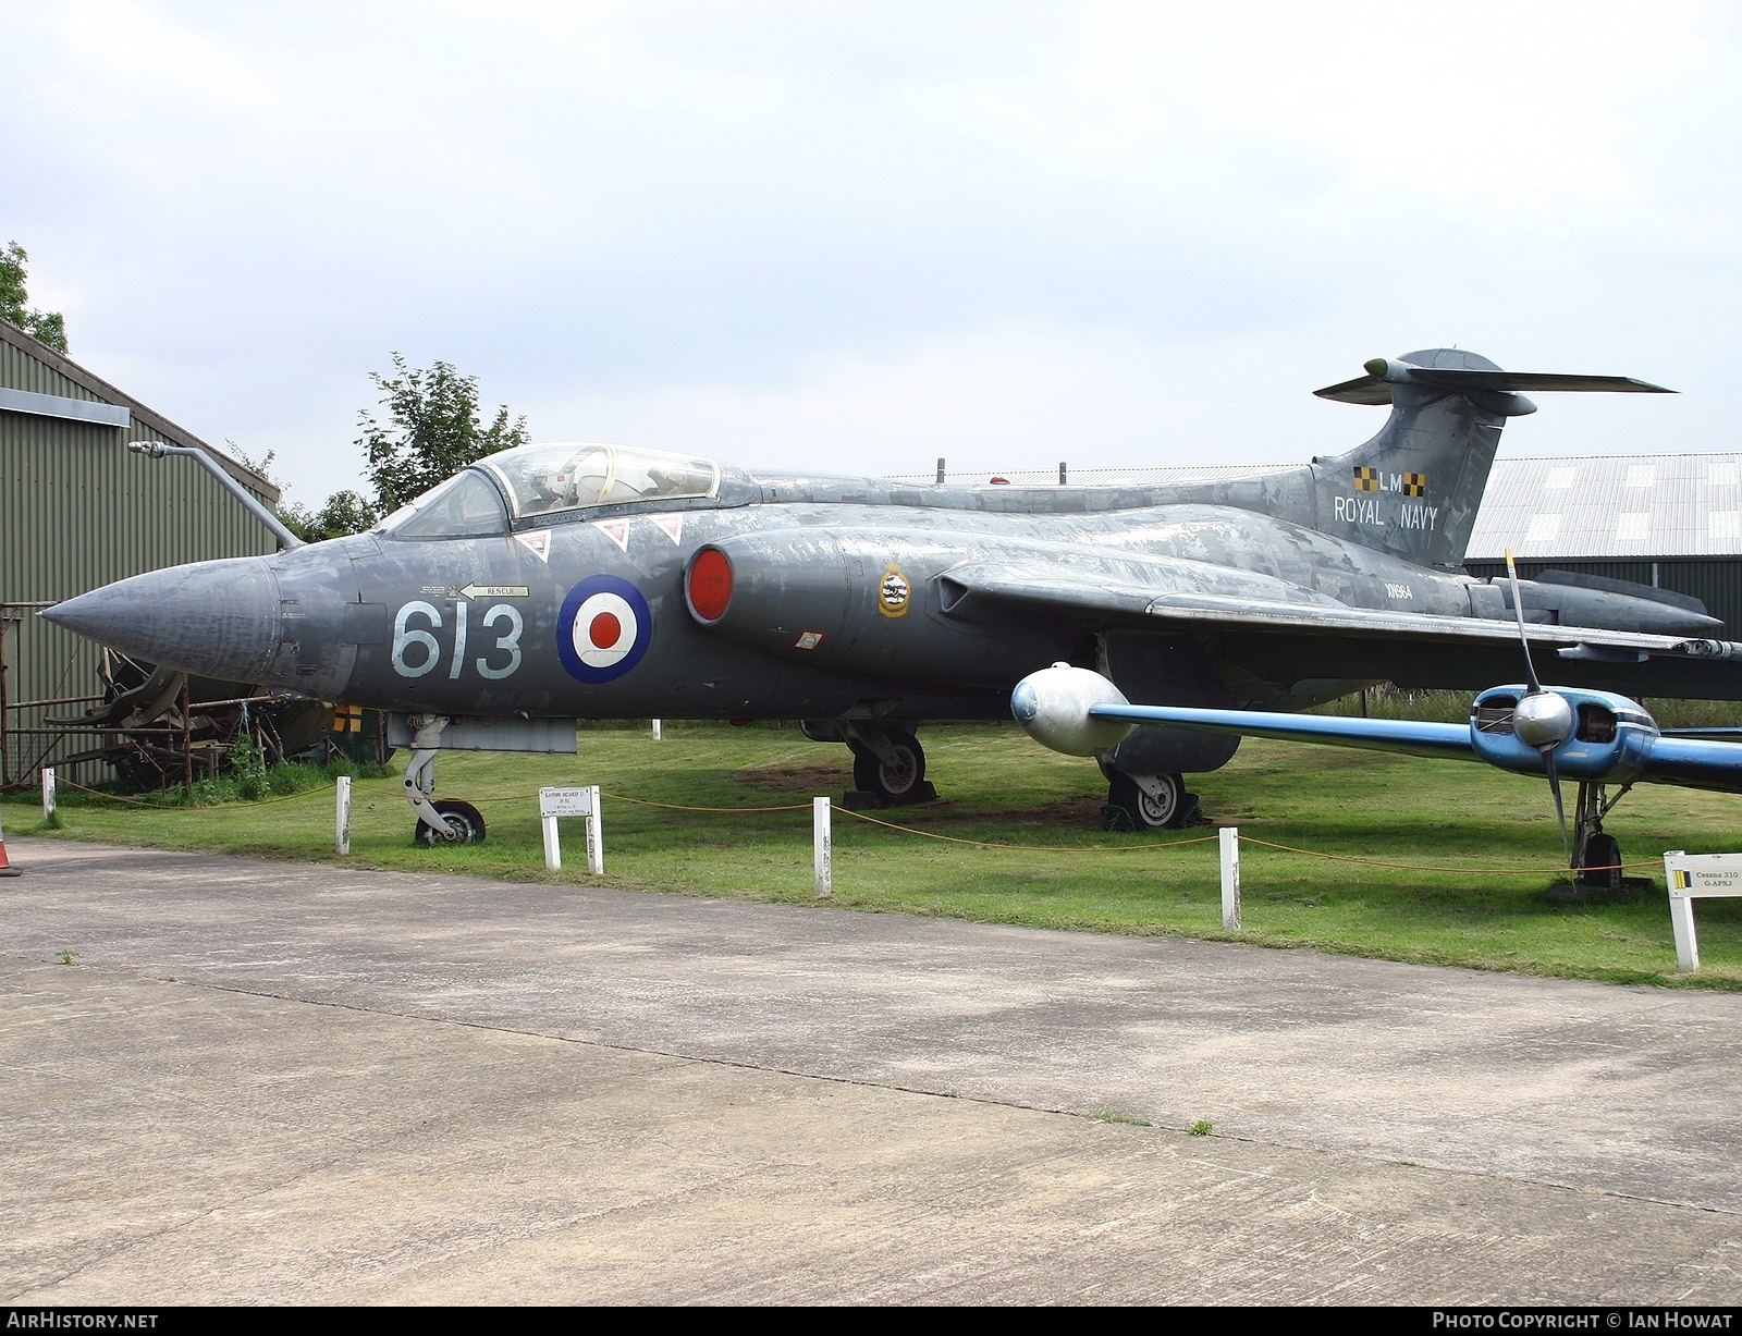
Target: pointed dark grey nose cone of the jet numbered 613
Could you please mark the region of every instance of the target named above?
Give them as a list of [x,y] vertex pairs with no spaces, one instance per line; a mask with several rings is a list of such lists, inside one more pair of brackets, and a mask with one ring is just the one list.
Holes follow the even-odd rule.
[[279,582],[263,557],[200,561],[117,580],[42,617],[152,664],[256,683],[279,641]]

